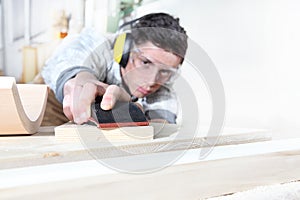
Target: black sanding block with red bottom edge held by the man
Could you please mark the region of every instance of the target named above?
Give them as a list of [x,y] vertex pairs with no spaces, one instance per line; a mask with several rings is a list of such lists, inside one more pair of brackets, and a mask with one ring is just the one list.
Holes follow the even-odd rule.
[[117,101],[111,110],[103,110],[100,106],[102,96],[98,96],[91,105],[90,122],[98,128],[116,128],[124,126],[149,126],[143,111],[132,102]]

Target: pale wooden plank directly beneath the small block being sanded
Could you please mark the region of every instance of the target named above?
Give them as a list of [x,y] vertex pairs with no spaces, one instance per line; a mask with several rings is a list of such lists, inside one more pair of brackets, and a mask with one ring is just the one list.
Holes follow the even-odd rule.
[[[154,129],[156,128],[157,126],[154,126]],[[174,125],[165,126],[163,133],[156,135],[151,141],[132,140],[113,143],[100,141],[89,143],[90,140],[74,143],[58,142],[53,130],[54,127],[41,127],[38,134],[29,137],[0,137],[0,169],[89,160],[93,159],[92,149],[101,153],[97,154],[99,158],[109,158],[121,157],[127,155],[128,152],[133,155],[148,154],[210,147],[211,145],[207,142],[211,138],[207,138],[205,131],[200,131],[199,137],[193,139],[185,136],[176,138],[174,132],[177,126]],[[215,145],[253,143],[270,139],[270,132],[264,130],[225,128]],[[115,148],[120,151],[115,151]]]

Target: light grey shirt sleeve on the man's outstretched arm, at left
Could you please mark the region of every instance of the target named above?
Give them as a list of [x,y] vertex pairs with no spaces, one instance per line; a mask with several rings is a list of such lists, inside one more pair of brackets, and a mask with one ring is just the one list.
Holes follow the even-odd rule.
[[81,71],[93,73],[100,81],[106,78],[113,61],[111,40],[94,29],[66,37],[42,69],[44,81],[62,102],[66,81]]

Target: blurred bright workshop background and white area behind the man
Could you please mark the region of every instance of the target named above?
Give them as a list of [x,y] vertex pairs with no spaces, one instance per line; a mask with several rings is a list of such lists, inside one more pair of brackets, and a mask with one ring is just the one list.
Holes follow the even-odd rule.
[[[31,82],[65,36],[84,27],[113,33],[124,21],[163,11],[179,17],[214,62],[225,88],[225,127],[300,134],[300,1],[0,0],[0,7],[0,71],[18,82]],[[182,70],[188,77],[188,61]],[[200,121],[209,125],[206,85],[191,79]]]

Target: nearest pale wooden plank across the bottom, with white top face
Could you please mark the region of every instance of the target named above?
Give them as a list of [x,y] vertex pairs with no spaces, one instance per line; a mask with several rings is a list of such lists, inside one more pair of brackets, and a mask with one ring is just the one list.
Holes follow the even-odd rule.
[[[204,199],[299,180],[299,143],[293,139],[215,147],[203,160],[201,149],[192,149],[171,167],[140,175],[122,174],[96,161],[1,170],[0,194],[28,199]],[[139,165],[174,153],[121,159]]]

